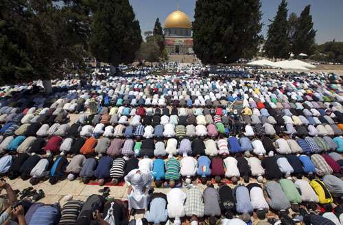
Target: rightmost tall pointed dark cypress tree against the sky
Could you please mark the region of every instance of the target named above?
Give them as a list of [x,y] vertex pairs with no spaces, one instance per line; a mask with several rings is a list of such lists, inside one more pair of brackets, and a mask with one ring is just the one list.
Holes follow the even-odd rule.
[[301,12],[296,23],[296,32],[294,33],[294,54],[305,53],[307,55],[314,54],[314,45],[316,38],[316,30],[312,16],[309,14],[311,5],[307,5]]

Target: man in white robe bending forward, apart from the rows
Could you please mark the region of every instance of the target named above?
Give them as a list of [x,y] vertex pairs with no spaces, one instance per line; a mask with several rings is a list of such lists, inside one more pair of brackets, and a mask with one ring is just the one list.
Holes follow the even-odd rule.
[[134,209],[145,209],[149,204],[149,189],[152,182],[152,174],[150,171],[132,169],[125,177],[126,185],[128,185],[128,208],[130,215],[134,213]]

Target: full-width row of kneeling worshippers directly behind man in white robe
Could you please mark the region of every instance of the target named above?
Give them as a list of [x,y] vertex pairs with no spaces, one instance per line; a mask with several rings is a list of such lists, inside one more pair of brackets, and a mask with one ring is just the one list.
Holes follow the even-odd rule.
[[[270,152],[272,153],[272,152]],[[250,152],[236,153],[231,156],[172,156],[168,158],[157,156],[155,159],[143,156],[91,156],[74,154],[67,158],[63,154],[56,156],[47,154],[5,154],[0,158],[0,174],[8,175],[10,179],[21,176],[23,180],[30,179],[32,185],[49,178],[51,184],[60,179],[74,180],[80,177],[84,183],[97,180],[104,185],[112,180],[114,185],[124,180],[124,177],[134,169],[143,169],[152,173],[156,187],[182,186],[191,180],[203,184],[208,181],[221,182],[231,180],[236,184],[240,178],[244,182],[257,178],[263,182],[279,178],[303,176],[313,179],[331,175],[340,178],[342,174],[343,156],[337,152],[322,154],[268,154],[256,157]]]

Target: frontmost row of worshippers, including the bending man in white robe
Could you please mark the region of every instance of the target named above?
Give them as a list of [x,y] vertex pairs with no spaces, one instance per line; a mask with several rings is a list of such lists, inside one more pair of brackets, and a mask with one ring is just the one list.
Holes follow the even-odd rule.
[[[43,204],[24,198],[11,208],[16,196],[1,180],[8,196],[0,197],[0,222],[10,224],[341,224],[342,204],[334,205],[334,199],[342,197],[342,180],[326,175],[322,180],[305,179],[270,180],[263,185],[226,185],[206,187],[188,185],[185,190],[169,189],[167,194],[150,189],[152,175],[149,171],[134,169],[126,176],[129,185],[128,201],[105,198],[93,194],[86,200],[70,200],[65,204]],[[25,192],[27,190],[23,190]],[[8,199],[6,199],[8,198]],[[7,202],[8,201],[8,202]],[[9,205],[9,206],[8,206]],[[292,209],[292,216],[289,216]],[[144,212],[143,218],[131,220],[134,211]],[[14,213],[15,211],[15,213]],[[275,212],[276,217],[266,213]],[[11,216],[10,216],[11,213]],[[256,213],[256,217],[252,217]],[[270,215],[270,213],[268,213]],[[16,223],[18,221],[18,223]]]

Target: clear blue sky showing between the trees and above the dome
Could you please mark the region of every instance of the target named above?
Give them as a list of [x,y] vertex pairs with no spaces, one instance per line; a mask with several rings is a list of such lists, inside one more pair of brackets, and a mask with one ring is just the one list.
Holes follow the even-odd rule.
[[[193,21],[196,0],[129,0],[140,22],[142,34],[152,30],[158,17],[162,26],[169,13],[176,10],[177,5]],[[261,0],[263,13],[262,34],[267,34],[269,19],[273,19],[281,0]],[[311,5],[314,29],[317,29],[316,41],[322,44],[329,40],[343,41],[343,0],[288,0],[288,14],[300,12],[305,5]]]

